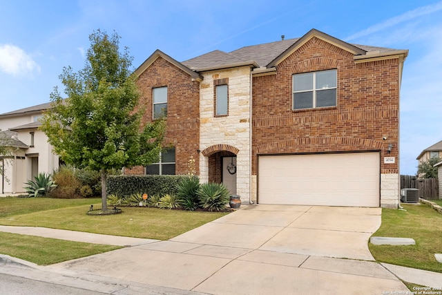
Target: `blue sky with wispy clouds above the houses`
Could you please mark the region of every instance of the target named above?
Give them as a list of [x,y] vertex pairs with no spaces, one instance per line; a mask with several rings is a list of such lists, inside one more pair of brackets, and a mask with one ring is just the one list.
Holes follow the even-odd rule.
[[98,28],[122,37],[134,68],[155,49],[184,61],[316,28],[352,44],[410,50],[401,174],[415,174],[416,156],[442,140],[442,1],[0,0],[0,28],[0,113],[49,102],[62,68],[83,68]]

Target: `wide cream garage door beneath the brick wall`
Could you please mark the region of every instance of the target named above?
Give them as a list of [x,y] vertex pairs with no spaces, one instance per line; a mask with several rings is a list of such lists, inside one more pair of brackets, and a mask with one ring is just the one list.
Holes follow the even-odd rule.
[[261,155],[258,203],[379,207],[379,153]]

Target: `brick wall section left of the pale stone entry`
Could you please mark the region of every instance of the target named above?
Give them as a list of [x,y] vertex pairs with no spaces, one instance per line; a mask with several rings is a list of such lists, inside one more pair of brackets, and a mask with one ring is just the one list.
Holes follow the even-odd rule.
[[[175,146],[175,173],[189,172],[188,161],[195,159],[196,174],[199,171],[200,146],[200,84],[191,81],[189,74],[158,57],[142,73],[137,81],[140,91],[140,107],[145,113],[142,125],[153,117],[152,88],[167,86],[167,127],[164,146]],[[144,174],[144,167],[126,169],[126,173]]]

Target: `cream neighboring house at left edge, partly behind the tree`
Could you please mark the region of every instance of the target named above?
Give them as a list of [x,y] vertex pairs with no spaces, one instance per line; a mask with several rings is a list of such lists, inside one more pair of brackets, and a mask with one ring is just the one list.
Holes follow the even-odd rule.
[[59,167],[59,157],[52,153],[48,137],[40,131],[39,117],[50,104],[0,114],[0,145],[10,155],[0,156],[3,174],[0,193],[22,193],[25,182],[38,173],[52,173]]

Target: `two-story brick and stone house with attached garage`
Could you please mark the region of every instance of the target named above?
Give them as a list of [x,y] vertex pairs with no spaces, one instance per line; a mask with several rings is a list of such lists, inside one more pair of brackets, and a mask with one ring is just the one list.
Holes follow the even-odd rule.
[[301,38],[135,73],[144,122],[167,117],[164,153],[135,174],[223,182],[243,202],[398,206],[399,96],[407,50]]

